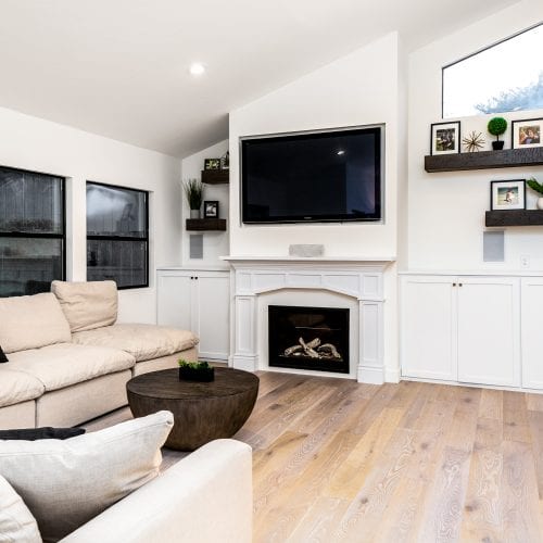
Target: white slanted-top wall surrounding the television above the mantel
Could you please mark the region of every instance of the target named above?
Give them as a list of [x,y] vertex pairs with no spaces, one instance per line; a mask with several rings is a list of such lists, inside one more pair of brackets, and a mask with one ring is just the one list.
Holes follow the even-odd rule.
[[[327,256],[396,253],[399,39],[389,34],[230,112],[230,252],[285,256],[291,243],[324,243]],[[386,224],[241,225],[239,138],[386,124]]]

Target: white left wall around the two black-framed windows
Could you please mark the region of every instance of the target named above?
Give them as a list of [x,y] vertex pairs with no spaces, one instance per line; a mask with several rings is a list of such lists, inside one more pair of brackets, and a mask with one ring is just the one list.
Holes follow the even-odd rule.
[[0,164],[68,178],[68,280],[86,279],[86,181],[151,191],[150,287],[119,292],[119,319],[155,323],[155,269],[180,264],[179,160],[0,109]]

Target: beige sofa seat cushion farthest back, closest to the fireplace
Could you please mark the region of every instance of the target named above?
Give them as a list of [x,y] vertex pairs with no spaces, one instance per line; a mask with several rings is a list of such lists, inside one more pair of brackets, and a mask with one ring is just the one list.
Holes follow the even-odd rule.
[[76,332],[73,341],[81,345],[122,349],[136,362],[150,361],[191,349],[198,338],[188,330],[154,325],[113,325]]

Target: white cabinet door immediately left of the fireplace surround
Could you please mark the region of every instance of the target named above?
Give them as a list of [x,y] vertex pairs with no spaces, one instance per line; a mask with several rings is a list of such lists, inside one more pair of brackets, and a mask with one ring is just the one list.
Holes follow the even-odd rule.
[[230,339],[230,275],[198,274],[198,316],[194,333],[200,337],[200,358],[228,359]]

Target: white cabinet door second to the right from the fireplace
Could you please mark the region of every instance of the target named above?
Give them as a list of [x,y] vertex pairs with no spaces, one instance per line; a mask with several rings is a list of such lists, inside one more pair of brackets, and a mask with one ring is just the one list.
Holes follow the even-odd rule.
[[459,278],[458,380],[520,384],[520,283],[517,278]]

